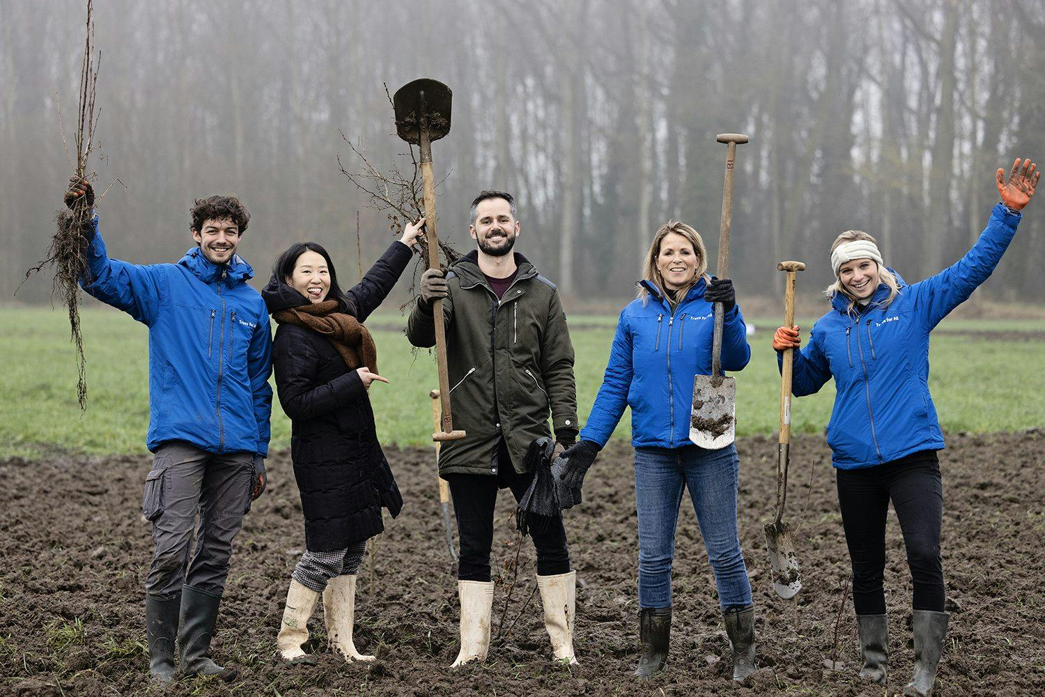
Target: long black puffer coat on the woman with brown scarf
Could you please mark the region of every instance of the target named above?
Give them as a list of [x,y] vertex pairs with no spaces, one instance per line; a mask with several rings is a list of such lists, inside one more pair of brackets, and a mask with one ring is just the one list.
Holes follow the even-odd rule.
[[[359,322],[395,285],[412,252],[393,242],[346,293]],[[262,292],[270,312],[308,302],[282,279]],[[291,458],[305,515],[305,545],[312,552],[343,550],[380,533],[381,507],[399,514],[402,497],[374,427],[374,412],[358,373],[349,370],[321,334],[281,324],[273,342],[279,403],[291,417]]]

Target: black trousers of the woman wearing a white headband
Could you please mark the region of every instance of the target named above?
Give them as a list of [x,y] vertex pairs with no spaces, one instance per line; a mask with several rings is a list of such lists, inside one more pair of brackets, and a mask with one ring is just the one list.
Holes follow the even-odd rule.
[[885,520],[889,501],[900,519],[916,610],[944,611],[944,564],[939,528],[944,489],[935,450],[924,450],[876,467],[839,469],[838,504],[853,562],[857,614],[884,614]]

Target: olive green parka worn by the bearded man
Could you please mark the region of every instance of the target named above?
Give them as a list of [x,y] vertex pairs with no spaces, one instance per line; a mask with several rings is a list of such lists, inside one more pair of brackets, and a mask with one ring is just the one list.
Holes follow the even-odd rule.
[[[496,474],[502,434],[517,472],[527,448],[551,436],[577,437],[574,346],[555,284],[515,252],[515,281],[500,301],[479,268],[478,252],[458,259],[446,274],[443,300],[454,428],[467,436],[442,444],[440,475]],[[407,323],[414,346],[436,344],[432,310],[415,304]]]

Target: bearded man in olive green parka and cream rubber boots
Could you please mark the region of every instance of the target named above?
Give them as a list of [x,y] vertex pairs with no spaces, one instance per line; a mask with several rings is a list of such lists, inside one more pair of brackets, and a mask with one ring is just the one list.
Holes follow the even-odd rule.
[[[454,427],[463,440],[442,444],[440,477],[449,483],[461,556],[461,651],[454,666],[482,660],[490,641],[493,583],[490,547],[497,490],[518,501],[533,481],[524,463],[530,444],[550,437],[557,454],[577,439],[574,347],[555,284],[513,252],[519,234],[515,202],[483,191],[471,204],[477,249],[444,275],[426,271],[407,324],[411,344],[435,345],[433,302],[442,299]],[[576,573],[570,568],[562,520],[532,532],[544,624],[556,660],[576,664],[573,650]]]

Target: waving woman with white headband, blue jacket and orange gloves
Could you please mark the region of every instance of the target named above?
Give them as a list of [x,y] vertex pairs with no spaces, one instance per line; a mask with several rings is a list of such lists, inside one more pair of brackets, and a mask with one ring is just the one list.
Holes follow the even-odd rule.
[[[885,266],[875,238],[840,234],[831,246],[837,277],[827,289],[831,310],[794,352],[792,392],[813,394],[835,378],[828,444],[853,565],[863,667],[860,676],[885,684],[888,623],[882,578],[889,501],[900,519],[913,581],[914,674],[904,695],[932,693],[947,634],[939,553],[943,486],[936,451],[944,438],[929,395],[929,332],[988,279],[1016,235],[1020,210],[1041,178],[1017,160],[1001,203],[973,248],[949,269],[907,285]],[[798,348],[798,327],[781,327],[777,352]]]

